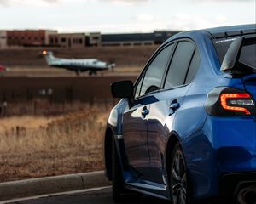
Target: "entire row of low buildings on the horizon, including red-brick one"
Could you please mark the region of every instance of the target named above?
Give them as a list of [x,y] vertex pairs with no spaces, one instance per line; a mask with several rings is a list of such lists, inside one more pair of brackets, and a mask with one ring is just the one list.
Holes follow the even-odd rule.
[[87,48],[107,46],[152,46],[165,42],[180,31],[148,33],[58,33],[53,30],[0,31],[0,48],[49,47]]

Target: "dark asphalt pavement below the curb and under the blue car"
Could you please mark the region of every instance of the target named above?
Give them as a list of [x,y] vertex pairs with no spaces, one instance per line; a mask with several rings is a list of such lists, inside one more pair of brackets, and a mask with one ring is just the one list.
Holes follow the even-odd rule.
[[[170,201],[149,195],[140,198],[127,197],[122,204],[171,204]],[[112,187],[97,187],[75,190],[52,195],[36,195],[21,199],[0,201],[0,204],[118,204],[112,199]],[[120,203],[121,204],[121,203]],[[233,201],[200,201],[197,204],[234,204]]]

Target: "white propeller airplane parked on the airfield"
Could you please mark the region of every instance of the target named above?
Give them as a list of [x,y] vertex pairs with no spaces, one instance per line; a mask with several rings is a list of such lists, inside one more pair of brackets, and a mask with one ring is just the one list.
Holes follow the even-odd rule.
[[89,71],[89,75],[96,75],[97,71],[105,71],[115,67],[114,63],[107,63],[98,59],[63,59],[55,58],[53,52],[43,51],[47,65],[75,71],[79,76],[83,71]]

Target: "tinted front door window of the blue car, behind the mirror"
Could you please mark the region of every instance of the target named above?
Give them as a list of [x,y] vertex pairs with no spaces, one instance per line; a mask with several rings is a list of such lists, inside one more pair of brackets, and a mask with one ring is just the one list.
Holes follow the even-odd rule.
[[173,44],[164,48],[148,66],[148,69],[145,73],[145,77],[143,80],[141,93],[139,95],[147,94],[160,88],[160,83],[162,77],[164,76],[166,65],[169,62],[170,54],[172,53],[172,48]]

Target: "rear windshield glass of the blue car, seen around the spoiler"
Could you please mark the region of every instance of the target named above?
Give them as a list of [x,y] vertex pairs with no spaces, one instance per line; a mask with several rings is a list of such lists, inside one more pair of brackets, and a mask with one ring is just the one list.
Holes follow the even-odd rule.
[[[255,35],[254,35],[255,36]],[[236,40],[236,37],[221,39],[214,39],[213,45],[216,48],[218,59],[220,64],[222,64],[225,54],[230,48],[230,44]],[[244,46],[241,49],[241,56],[239,61],[242,64],[251,66],[253,69],[256,69],[256,44]]]

